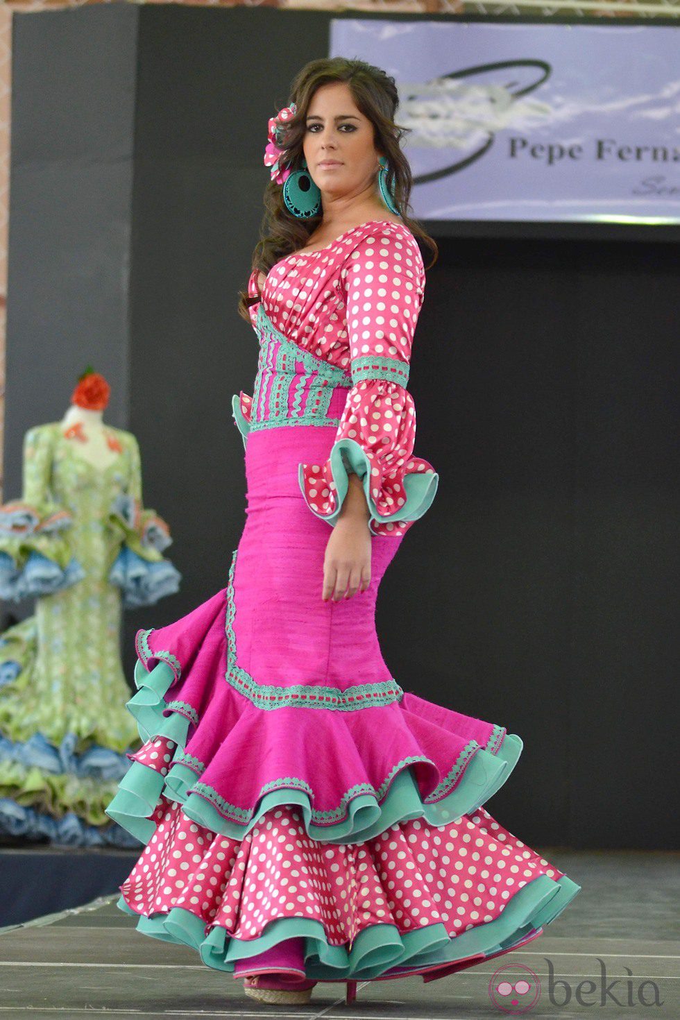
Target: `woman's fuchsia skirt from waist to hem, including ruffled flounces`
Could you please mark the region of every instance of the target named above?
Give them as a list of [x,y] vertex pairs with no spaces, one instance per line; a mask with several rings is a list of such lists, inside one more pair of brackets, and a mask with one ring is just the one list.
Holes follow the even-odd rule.
[[372,536],[368,591],[322,601],[330,527],[298,465],[334,437],[252,431],[224,589],[138,633],[145,745],[107,813],[146,847],[118,906],[236,977],[430,980],[536,937],[580,886],[482,806],[521,740],[405,691],[413,664],[382,658],[376,597],[403,539]]

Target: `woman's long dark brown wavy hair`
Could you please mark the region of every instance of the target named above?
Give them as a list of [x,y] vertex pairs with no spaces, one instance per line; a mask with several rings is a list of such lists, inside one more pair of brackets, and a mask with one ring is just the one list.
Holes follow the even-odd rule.
[[[291,86],[292,103],[296,112],[291,119],[277,120],[278,147],[282,149],[279,169],[299,169],[304,158],[303,140],[307,125],[307,110],[314,93],[320,86],[330,82],[346,82],[354,101],[372,121],[375,148],[387,157],[386,185],[395,197],[398,213],[419,243],[429,247],[432,260],[425,267],[431,268],[436,262],[438,248],[433,238],[408,214],[411,209],[409,198],[413,188],[413,175],[409,161],[402,152],[400,141],[410,128],[395,123],[399,106],[399,94],[394,78],[379,67],[363,60],[349,60],[346,57],[321,57],[311,60],[298,72]],[[278,112],[278,111],[276,111]],[[257,296],[249,297],[248,287],[239,292],[239,314],[250,323],[249,307],[260,300],[259,272],[265,276],[271,267],[283,258],[306,246],[311,234],[320,224],[323,212],[308,219],[299,219],[289,211],[283,201],[283,189],[274,181],[269,181],[264,191],[264,215],[260,228],[260,240],[255,246],[252,271],[257,270]]]

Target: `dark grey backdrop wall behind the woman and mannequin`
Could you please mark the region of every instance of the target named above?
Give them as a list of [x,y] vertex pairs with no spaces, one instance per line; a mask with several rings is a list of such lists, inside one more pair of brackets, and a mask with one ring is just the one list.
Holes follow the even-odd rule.
[[[327,52],[329,17],[14,15],[4,496],[23,432],[61,417],[93,362],[184,573],[126,614],[130,677],[138,627],[226,584],[245,523],[230,399],[257,367],[237,292],[267,119]],[[677,247],[438,240],[409,389],[440,482],[382,583],[385,660],[404,687],[523,737],[488,804],[522,838],[671,847]]]

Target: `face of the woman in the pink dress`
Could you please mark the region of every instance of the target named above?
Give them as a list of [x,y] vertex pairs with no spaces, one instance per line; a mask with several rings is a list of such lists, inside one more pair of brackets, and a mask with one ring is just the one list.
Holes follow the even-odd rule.
[[314,93],[303,151],[314,184],[331,197],[358,195],[375,181],[380,154],[373,144],[373,124],[359,111],[345,82],[322,85]]

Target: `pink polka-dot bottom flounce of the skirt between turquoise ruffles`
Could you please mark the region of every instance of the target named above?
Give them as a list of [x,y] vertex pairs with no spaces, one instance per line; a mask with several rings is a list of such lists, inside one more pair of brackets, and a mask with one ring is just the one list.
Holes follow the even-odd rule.
[[320,921],[331,946],[364,928],[400,933],[443,924],[449,935],[492,921],[539,875],[564,872],[539,857],[484,808],[434,826],[398,822],[359,845],[321,844],[297,807],[267,812],[243,840],[218,835],[161,798],[156,830],[122,897],[151,917],[181,907],[240,939],[259,937],[280,917]]

